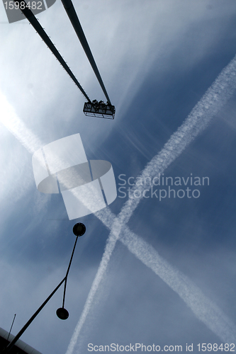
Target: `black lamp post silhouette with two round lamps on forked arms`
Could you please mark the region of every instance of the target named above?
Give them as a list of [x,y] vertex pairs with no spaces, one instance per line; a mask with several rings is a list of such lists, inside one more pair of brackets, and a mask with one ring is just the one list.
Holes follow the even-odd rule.
[[[76,240],[74,242],[74,249],[75,249],[75,246],[77,245],[78,237],[82,236],[85,232],[86,232],[86,227],[85,227],[84,224],[82,224],[82,222],[79,222],[79,223],[74,225],[73,233],[77,236],[77,238],[76,238]],[[47,302],[55,294],[55,292],[60,288],[60,286],[63,284],[63,282],[64,282],[64,295],[63,295],[62,307],[57,309],[56,314],[57,314],[57,317],[59,317],[60,319],[68,319],[69,312],[67,311],[67,309],[64,309],[64,298],[65,298],[65,292],[66,292],[66,287],[67,287],[67,278],[68,278],[68,274],[69,274],[69,268],[70,268],[70,266],[72,264],[72,258],[74,256],[74,249],[72,251],[72,256],[70,258],[69,265],[68,265],[68,268],[67,268],[67,273],[66,273],[65,277],[57,285],[57,287],[55,287],[55,289],[51,292],[51,294],[47,297],[47,299],[45,299],[45,302],[43,302],[43,304],[38,308],[38,310],[33,314],[33,316],[30,317],[28,322],[26,322],[25,326],[22,327],[21,331],[19,331],[16,334],[16,336],[13,338],[13,340],[8,344],[8,346],[6,346],[6,348],[4,348],[4,350],[2,350],[2,352],[1,352],[2,354],[3,353],[9,353],[9,351],[13,348],[14,344],[16,343],[16,341],[18,341],[18,339],[21,337],[21,335],[24,333],[24,331],[26,331],[26,329],[31,324],[31,322],[40,313],[41,309],[43,309],[43,307],[45,307],[45,304],[47,304]]]

